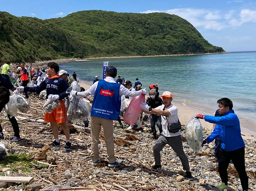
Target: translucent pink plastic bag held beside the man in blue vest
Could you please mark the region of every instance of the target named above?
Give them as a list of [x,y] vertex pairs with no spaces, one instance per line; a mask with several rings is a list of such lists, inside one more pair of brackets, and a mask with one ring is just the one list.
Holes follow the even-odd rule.
[[145,102],[145,95],[140,94],[137,97],[132,98],[131,103],[124,113],[124,122],[126,124],[134,124],[141,112],[140,103]]

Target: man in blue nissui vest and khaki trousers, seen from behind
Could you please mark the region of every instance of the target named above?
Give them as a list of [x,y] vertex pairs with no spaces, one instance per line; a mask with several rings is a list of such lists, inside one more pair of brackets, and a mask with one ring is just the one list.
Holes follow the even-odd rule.
[[92,137],[92,161],[97,165],[99,160],[99,136],[103,126],[105,143],[108,153],[109,167],[119,166],[116,161],[113,140],[113,120],[117,121],[121,109],[121,95],[136,97],[141,93],[147,94],[146,90],[129,91],[125,86],[116,83],[117,69],[109,66],[106,69],[106,78],[95,82],[91,88],[84,92],[71,91],[72,96],[87,97],[94,95],[91,111],[91,137]]

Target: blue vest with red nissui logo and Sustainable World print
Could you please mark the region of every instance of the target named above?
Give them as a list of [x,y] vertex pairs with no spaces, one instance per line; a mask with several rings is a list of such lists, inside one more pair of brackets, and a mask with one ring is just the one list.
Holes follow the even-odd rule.
[[121,109],[120,84],[100,80],[94,93],[91,116],[117,120]]

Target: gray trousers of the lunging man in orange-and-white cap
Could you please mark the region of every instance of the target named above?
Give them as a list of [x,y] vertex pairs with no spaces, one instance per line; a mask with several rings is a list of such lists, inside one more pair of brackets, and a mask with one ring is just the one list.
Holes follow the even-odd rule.
[[161,165],[161,155],[160,151],[164,148],[166,144],[169,144],[171,148],[176,152],[178,157],[181,160],[182,166],[184,171],[189,171],[189,163],[188,158],[183,150],[181,136],[172,136],[172,137],[165,137],[162,134],[157,139],[156,144],[154,146],[154,158],[155,158],[155,165]]

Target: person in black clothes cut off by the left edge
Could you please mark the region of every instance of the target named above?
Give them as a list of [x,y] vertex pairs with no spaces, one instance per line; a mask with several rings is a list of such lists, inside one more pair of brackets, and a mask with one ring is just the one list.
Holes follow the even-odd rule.
[[[13,87],[13,84],[11,84],[9,78],[5,77],[5,75],[0,75],[0,113],[3,108],[5,108],[5,105],[9,102],[10,99],[10,92],[9,90],[14,91],[14,93],[18,94],[18,91],[15,90],[16,88]],[[7,115],[9,118],[9,121],[11,122],[11,125],[13,126],[14,131],[14,138],[11,140],[11,142],[17,142],[21,140],[20,137],[20,128],[18,125],[18,122],[14,116]],[[3,136],[3,129],[0,124],[0,139],[4,139]]]

